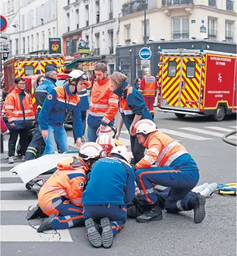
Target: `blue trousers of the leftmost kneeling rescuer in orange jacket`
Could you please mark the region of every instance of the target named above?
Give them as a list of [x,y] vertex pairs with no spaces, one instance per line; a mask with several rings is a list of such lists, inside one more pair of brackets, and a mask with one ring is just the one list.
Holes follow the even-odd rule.
[[84,225],[83,207],[78,207],[69,201],[65,201],[55,207],[55,210],[58,212],[58,215],[53,219],[53,230]]

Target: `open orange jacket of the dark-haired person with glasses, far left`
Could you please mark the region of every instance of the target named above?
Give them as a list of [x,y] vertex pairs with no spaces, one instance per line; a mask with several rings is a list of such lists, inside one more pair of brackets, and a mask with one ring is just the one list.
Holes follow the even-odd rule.
[[[22,102],[21,98],[23,98]],[[29,97],[28,93],[21,91],[17,87],[6,97],[4,109],[8,122],[14,122],[15,129],[29,128],[31,127],[32,121],[35,119],[31,97]]]

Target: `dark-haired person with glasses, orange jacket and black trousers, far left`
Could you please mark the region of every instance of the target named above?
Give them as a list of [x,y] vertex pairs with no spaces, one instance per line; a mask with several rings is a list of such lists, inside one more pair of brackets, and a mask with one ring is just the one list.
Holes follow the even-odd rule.
[[6,96],[5,117],[8,119],[6,124],[10,131],[8,141],[8,163],[13,164],[15,155],[16,141],[20,136],[19,145],[22,150],[22,161],[25,161],[25,152],[28,147],[27,140],[29,129],[34,124],[35,114],[32,108],[31,97],[25,92],[25,79],[16,78],[15,87]]

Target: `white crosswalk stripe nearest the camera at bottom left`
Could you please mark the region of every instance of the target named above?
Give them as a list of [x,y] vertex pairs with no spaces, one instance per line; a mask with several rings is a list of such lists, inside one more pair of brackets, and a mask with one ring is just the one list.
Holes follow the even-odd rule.
[[28,225],[1,225],[1,242],[73,242],[73,240],[69,230],[48,230],[38,233]]

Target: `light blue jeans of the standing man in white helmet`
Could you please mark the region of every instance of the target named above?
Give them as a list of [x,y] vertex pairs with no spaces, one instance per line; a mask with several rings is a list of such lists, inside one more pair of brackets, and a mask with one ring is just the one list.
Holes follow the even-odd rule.
[[[39,130],[40,132],[42,132],[42,128],[40,127],[40,125]],[[48,139],[46,140],[45,138],[43,138],[45,141],[45,152],[43,152],[43,155],[54,154],[56,145],[55,140],[57,140],[59,143],[59,149],[61,154],[69,150],[69,147],[67,145],[67,134],[63,125],[55,127],[49,125],[48,133]]]

